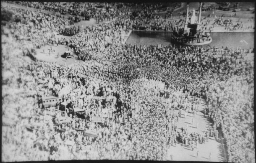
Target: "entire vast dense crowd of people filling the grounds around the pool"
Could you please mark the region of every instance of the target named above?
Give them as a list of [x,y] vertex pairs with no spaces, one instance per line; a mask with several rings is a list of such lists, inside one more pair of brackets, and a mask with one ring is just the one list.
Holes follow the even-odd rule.
[[[59,3],[18,4],[71,15],[83,11],[79,3],[70,9]],[[103,10],[94,10],[99,5],[114,8],[107,12],[112,21],[81,31],[66,28],[73,22],[56,15],[5,8],[17,14],[1,31],[3,160],[167,160],[169,145],[193,150],[209,137],[217,140],[221,131],[229,161],[250,162],[254,65],[244,56],[254,49],[124,44],[134,24],[150,23],[161,6],[143,5],[142,14],[129,15],[130,5],[86,3],[86,12],[104,17]],[[155,20],[146,28],[178,29],[184,21],[165,23]],[[73,36],[56,41],[60,31]],[[65,66],[24,57],[47,43],[66,44],[86,62]],[[44,107],[42,97],[52,95],[61,103]],[[214,125],[202,133],[189,133],[187,126],[180,131],[180,113],[174,111],[197,114],[196,97],[206,99],[205,116]],[[100,124],[95,117],[101,117]]]

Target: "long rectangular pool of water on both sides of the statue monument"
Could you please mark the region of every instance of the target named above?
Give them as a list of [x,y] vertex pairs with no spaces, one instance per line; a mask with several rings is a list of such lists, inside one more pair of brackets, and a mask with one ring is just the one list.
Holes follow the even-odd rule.
[[[138,45],[169,45],[172,44],[170,42],[171,34],[172,32],[132,31],[126,43],[136,43]],[[254,32],[214,32],[211,33],[211,36],[212,43],[210,43],[209,46],[254,47]]]

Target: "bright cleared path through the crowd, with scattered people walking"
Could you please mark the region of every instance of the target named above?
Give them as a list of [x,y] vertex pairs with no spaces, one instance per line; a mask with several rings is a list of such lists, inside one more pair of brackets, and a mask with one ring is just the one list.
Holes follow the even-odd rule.
[[[209,127],[212,127],[212,122],[209,121],[208,117],[204,117],[203,110],[206,108],[206,102],[204,99],[198,98],[199,100],[199,112],[193,116],[191,113],[187,113],[185,118],[185,112],[181,113],[179,121],[176,122],[178,131],[181,132],[181,127],[188,127],[188,132],[204,132]],[[190,97],[192,102],[192,97]],[[192,102],[193,103],[193,102]],[[178,114],[178,110],[175,110],[175,115]],[[192,123],[193,119],[193,123]],[[198,122],[198,127],[196,127]],[[198,151],[198,155],[197,155]],[[209,158],[211,153],[211,158]],[[172,155],[172,159],[171,159]],[[177,161],[216,161],[216,162],[227,162],[227,154],[223,145],[221,133],[219,133],[218,141],[214,137],[209,137],[208,142],[198,145],[198,148],[192,150],[190,147],[186,147],[181,143],[177,143],[174,146],[170,145],[167,150],[167,160]]]

